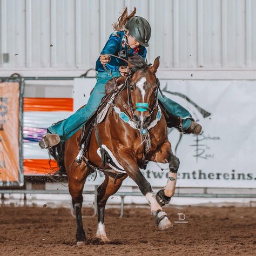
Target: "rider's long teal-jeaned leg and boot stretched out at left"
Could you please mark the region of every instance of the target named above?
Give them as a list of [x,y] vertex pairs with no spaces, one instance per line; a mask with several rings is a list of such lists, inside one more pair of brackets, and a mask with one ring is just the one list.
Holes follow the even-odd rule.
[[[119,72],[112,72],[112,75],[114,77],[120,76]],[[48,127],[48,132],[52,134],[58,134],[61,142],[64,142],[66,139],[75,134],[80,129],[80,127],[82,127],[87,122],[87,120],[97,111],[102,98],[105,96],[105,84],[109,79],[111,79],[109,73],[98,72],[97,83],[87,104],[73,113],[69,118]],[[47,140],[47,137],[45,137],[43,140]],[[51,146],[56,145],[57,143],[46,142],[46,144]]]

